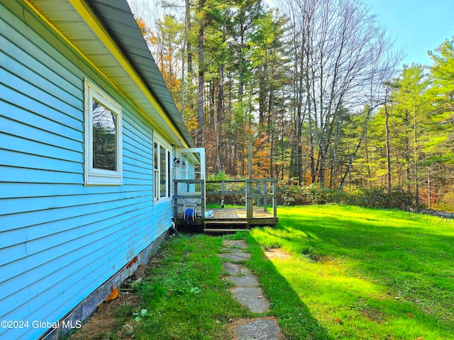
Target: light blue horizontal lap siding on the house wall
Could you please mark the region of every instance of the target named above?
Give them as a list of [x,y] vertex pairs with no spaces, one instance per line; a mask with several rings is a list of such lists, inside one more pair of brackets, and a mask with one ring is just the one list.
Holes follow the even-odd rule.
[[[56,322],[165,232],[172,209],[153,205],[150,124],[27,20],[0,4],[0,319]],[[83,185],[84,77],[123,107],[123,186]]]

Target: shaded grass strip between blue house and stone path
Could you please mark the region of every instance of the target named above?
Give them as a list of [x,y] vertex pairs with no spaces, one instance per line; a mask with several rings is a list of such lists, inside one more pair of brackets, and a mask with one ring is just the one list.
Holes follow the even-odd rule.
[[222,279],[221,243],[220,237],[192,235],[163,244],[159,263],[139,288],[147,313],[135,323],[135,339],[232,339],[231,320],[251,314]]

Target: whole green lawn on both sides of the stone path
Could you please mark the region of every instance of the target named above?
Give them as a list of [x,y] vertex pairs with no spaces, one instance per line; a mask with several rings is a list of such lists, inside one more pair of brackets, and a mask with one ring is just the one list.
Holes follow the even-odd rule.
[[[279,208],[277,228],[245,238],[245,263],[287,340],[454,339],[454,220],[339,205]],[[167,240],[140,284],[140,305],[118,312],[98,339],[233,339],[231,322],[256,315],[223,279],[221,237]],[[269,260],[265,251],[290,254]],[[134,318],[138,316],[138,321]]]

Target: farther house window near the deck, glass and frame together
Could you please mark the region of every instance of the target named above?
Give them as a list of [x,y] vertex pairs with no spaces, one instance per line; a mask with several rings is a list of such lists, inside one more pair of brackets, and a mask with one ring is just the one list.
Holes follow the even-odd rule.
[[172,153],[170,146],[155,135],[153,150],[155,155],[155,201],[168,200],[172,196]]

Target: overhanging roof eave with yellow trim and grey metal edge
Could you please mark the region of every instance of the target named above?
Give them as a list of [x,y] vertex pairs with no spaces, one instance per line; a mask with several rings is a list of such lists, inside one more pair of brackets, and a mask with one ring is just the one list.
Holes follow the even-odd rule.
[[193,146],[126,0],[25,1],[173,145]]

